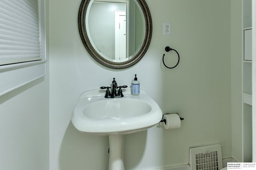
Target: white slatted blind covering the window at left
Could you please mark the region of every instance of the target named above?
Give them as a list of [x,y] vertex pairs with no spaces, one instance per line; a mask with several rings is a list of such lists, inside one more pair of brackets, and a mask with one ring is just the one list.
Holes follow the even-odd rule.
[[0,65],[42,60],[38,0],[0,0]]

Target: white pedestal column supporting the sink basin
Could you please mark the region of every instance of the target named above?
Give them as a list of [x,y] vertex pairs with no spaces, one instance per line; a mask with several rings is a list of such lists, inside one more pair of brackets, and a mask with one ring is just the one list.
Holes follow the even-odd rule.
[[108,170],[124,170],[123,144],[124,135],[109,135],[109,162]]

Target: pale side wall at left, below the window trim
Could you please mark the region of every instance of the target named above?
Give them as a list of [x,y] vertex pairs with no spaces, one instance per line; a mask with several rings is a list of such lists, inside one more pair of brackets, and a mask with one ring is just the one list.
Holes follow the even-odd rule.
[[48,169],[48,97],[43,78],[0,97],[0,169]]

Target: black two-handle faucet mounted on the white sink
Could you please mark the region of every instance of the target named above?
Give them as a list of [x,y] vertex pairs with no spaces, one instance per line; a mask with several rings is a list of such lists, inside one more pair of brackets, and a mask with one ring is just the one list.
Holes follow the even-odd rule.
[[[124,97],[123,93],[122,93],[122,89],[121,88],[127,88],[128,86],[117,86],[117,82],[115,80],[115,78],[113,78],[113,81],[112,81],[112,92],[110,93],[110,88],[111,87],[105,87],[105,86],[102,86],[100,87],[100,89],[107,89],[106,90],[106,94],[105,94],[105,98],[118,98],[118,97]],[[116,89],[118,89],[118,92],[116,93]]]

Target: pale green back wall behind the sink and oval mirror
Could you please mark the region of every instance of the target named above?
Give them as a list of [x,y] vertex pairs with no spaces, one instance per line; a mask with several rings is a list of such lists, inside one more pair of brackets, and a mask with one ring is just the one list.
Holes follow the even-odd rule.
[[[220,143],[231,157],[230,0],[146,0],[152,40],[142,60],[125,70],[105,68],[89,56],[78,33],[80,0],[49,1],[50,170],[104,170],[108,137],[78,132],[70,117],[80,94],[109,85],[129,85],[137,73],[141,88],[164,113],[180,113],[178,130],[155,126],[125,137],[127,170],[188,164],[188,148]],[[162,23],[171,22],[171,36]],[[175,69],[164,68],[164,47],[180,53]],[[175,53],[166,53],[168,58]],[[171,65],[171,64],[170,64]]]

